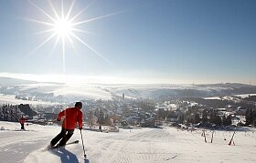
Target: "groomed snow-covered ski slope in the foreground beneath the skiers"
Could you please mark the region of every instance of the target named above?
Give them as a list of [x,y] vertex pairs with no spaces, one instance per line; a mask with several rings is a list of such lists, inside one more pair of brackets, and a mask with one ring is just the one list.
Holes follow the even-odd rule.
[[[228,145],[233,131],[215,131],[213,143],[207,131],[208,143],[202,130],[187,132],[174,127],[120,129],[101,133],[82,130],[87,158],[83,158],[81,141],[66,148],[46,150],[48,142],[60,131],[58,126],[26,126],[19,131],[18,123],[0,121],[0,162],[25,163],[151,163],[151,162],[256,162],[255,128],[243,128],[235,134],[234,144]],[[224,138],[226,140],[224,140]],[[80,140],[80,131],[69,141]]]

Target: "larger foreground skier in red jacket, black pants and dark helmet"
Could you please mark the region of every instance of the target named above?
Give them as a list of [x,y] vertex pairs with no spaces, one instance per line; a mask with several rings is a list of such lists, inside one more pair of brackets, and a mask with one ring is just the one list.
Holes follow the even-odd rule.
[[[59,113],[57,118],[60,121],[61,117],[65,117],[62,122],[62,128],[60,133],[50,141],[49,148],[53,148],[58,142],[57,147],[65,146],[69,138],[72,137],[77,122],[79,123],[79,129],[82,129],[82,107],[81,102],[76,102],[75,107],[69,107]],[[60,140],[60,141],[59,141]]]

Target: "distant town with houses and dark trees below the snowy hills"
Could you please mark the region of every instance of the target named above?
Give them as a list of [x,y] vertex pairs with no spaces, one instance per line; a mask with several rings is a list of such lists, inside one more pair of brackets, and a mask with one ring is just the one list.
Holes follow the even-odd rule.
[[[163,99],[81,100],[87,127],[256,127],[256,96],[247,97],[170,97]],[[53,125],[58,113],[69,105],[40,106],[4,104],[0,120]]]

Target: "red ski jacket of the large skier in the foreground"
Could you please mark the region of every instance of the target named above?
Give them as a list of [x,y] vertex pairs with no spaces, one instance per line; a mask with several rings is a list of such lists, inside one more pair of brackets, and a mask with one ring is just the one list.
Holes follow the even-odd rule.
[[69,107],[59,113],[58,120],[61,117],[64,117],[62,122],[62,127],[65,129],[74,129],[76,127],[77,122],[79,123],[79,128],[82,127],[82,112],[79,107]]

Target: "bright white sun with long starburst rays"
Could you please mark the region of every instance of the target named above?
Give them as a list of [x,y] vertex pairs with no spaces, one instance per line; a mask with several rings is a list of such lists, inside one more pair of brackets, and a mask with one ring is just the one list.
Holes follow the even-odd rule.
[[[97,17],[92,17],[90,19],[85,19],[85,20],[81,20],[81,21],[76,21],[77,18],[79,16],[81,16],[82,13],[88,8],[89,5],[85,6],[83,9],[81,9],[77,14],[72,15],[72,13],[74,12],[73,6],[74,6],[76,0],[73,0],[72,2],[66,1],[66,2],[71,2],[69,5],[68,12],[64,11],[64,8],[67,8],[67,7],[64,7],[64,1],[63,0],[60,0],[60,1],[61,1],[60,11],[58,11],[56,9],[56,7],[53,5],[52,1],[50,1],[50,0],[48,1],[49,7],[53,11],[53,14],[49,14],[48,12],[46,12],[46,10],[42,9],[41,7],[39,7],[38,5],[33,3],[31,0],[28,1],[31,5],[34,5],[48,19],[48,21],[43,21],[43,20],[38,20],[38,19],[34,19],[34,18],[27,18],[28,21],[31,21],[31,22],[34,22],[37,24],[41,24],[44,26],[46,26],[46,25],[48,26],[48,28],[46,30],[39,31],[36,33],[37,35],[48,34],[49,36],[40,45],[38,45],[33,50],[33,52],[37,51],[40,47],[44,46],[50,40],[55,38],[55,44],[53,45],[53,49],[52,49],[52,52],[54,52],[56,47],[59,45],[59,42],[61,42],[62,66],[63,66],[62,69],[63,69],[63,74],[65,74],[66,45],[71,44],[72,48],[74,48],[73,43],[74,43],[74,40],[76,40],[81,45],[86,46],[94,54],[100,56],[101,59],[105,60],[108,64],[112,65],[112,63],[108,59],[106,59],[104,56],[102,56],[101,53],[96,51],[92,46],[90,46],[88,43],[86,43],[85,41],[83,41],[80,38],[80,34],[84,35],[84,34],[88,34],[89,32],[85,31],[83,29],[80,29],[79,25],[88,24],[92,21],[99,20],[101,18],[109,17],[112,15],[116,15],[123,11],[112,13],[109,15],[101,15],[101,16],[97,16]],[[76,50],[74,49],[74,51],[76,51]]]

